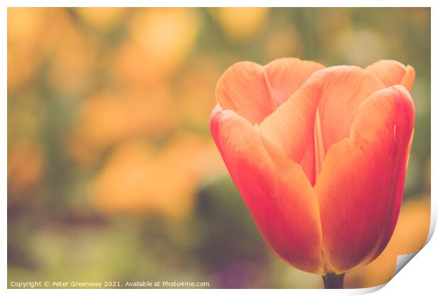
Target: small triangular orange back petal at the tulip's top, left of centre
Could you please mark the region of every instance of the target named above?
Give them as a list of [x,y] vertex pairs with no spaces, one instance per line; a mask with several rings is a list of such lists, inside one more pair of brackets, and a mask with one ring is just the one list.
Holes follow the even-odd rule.
[[278,106],[287,101],[310,75],[324,68],[320,63],[300,58],[278,58],[268,63],[266,74]]

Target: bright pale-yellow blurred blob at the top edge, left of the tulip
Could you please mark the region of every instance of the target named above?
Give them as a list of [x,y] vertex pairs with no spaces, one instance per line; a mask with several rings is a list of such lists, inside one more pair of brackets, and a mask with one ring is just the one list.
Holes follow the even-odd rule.
[[128,24],[131,39],[114,57],[114,79],[153,85],[172,78],[194,46],[199,21],[191,8],[145,8]]

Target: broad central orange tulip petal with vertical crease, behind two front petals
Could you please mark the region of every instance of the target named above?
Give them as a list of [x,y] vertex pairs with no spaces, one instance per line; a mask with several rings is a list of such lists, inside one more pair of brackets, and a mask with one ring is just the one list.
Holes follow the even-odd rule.
[[319,70],[265,118],[261,133],[300,164],[313,185],[331,144],[350,134],[362,101],[383,88],[374,74],[359,67]]

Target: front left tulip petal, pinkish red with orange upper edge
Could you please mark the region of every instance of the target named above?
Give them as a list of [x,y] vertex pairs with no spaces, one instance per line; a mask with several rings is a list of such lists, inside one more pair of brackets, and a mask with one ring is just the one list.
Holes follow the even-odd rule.
[[321,224],[316,195],[302,168],[234,111],[215,107],[213,139],[261,234],[293,266],[321,269]]

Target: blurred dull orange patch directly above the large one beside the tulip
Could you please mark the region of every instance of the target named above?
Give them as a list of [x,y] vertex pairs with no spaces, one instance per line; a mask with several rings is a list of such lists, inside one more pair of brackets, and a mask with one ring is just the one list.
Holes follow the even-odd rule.
[[151,90],[102,90],[84,101],[66,148],[78,163],[90,163],[103,150],[127,137],[160,138],[176,124],[177,106],[165,86]]

